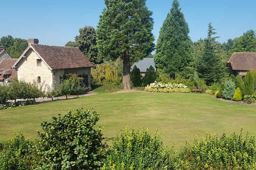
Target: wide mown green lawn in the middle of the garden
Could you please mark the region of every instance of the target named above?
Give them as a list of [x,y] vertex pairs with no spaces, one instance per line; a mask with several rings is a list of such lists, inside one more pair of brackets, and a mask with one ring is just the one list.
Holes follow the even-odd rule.
[[174,141],[175,148],[206,132],[222,135],[225,129],[230,134],[243,128],[244,134],[256,134],[255,106],[235,105],[207,94],[130,92],[0,110],[0,139],[11,139],[13,129],[23,129],[25,137],[37,138],[41,121],[52,121],[52,116],[76,108],[93,108],[100,114],[98,126],[107,124],[103,134],[109,145],[126,125],[149,128],[152,133],[158,128],[159,134],[164,133],[164,143],[171,146]]

